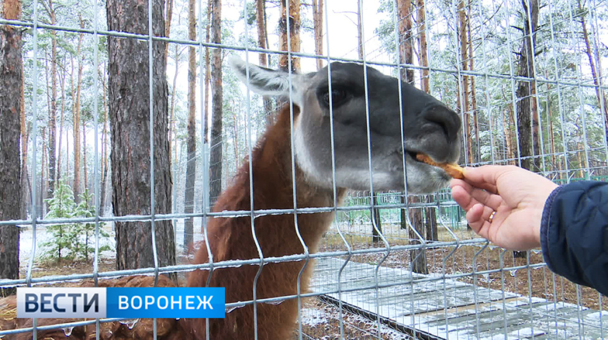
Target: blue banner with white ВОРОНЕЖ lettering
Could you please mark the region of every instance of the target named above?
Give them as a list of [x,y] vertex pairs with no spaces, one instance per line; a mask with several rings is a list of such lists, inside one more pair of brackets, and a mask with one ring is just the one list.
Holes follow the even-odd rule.
[[108,287],[108,318],[224,318],[225,288]]

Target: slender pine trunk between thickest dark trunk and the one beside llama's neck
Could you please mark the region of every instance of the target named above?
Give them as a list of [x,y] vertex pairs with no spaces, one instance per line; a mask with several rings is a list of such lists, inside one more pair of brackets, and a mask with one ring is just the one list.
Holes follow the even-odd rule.
[[[188,0],[188,39],[196,41],[196,1]],[[184,213],[194,212],[194,186],[196,176],[196,50],[188,47],[188,156],[186,163],[186,187]],[[184,248],[194,237],[194,218],[187,218],[184,225]]]

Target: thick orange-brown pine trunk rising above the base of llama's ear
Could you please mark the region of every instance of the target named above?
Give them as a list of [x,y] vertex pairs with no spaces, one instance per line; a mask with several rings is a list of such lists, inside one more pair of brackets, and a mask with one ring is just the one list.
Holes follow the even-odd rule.
[[[278,22],[279,45],[282,51],[300,52],[300,0],[280,0],[281,18]],[[287,27],[287,3],[289,1],[289,29]],[[289,31],[289,44],[287,34]],[[289,70],[288,55],[278,57],[278,67],[281,70]],[[291,58],[291,71],[300,70],[300,58]]]

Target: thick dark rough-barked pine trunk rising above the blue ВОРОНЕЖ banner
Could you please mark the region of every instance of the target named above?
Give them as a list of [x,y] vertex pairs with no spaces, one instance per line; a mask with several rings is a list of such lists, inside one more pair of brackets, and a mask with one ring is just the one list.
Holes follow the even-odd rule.
[[[153,34],[162,36],[165,32],[163,2],[150,1],[153,1]],[[109,30],[148,35],[148,1],[109,0],[106,10]],[[108,37],[114,216],[151,214],[151,195],[154,195],[155,213],[168,213],[171,210],[165,46],[164,42],[152,43],[153,65],[150,67],[148,43]],[[153,72],[152,94],[150,72]],[[150,98],[153,110],[150,110]],[[153,115],[153,131],[150,131],[150,115]],[[151,138],[153,154],[150,150]],[[151,160],[154,161],[154,178],[150,173]],[[115,227],[119,270],[154,267],[151,245],[157,249],[159,266],[176,263],[171,221],[155,221],[156,244],[152,244],[150,222],[116,222]]]

